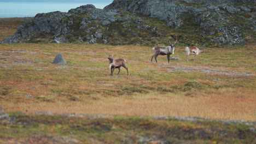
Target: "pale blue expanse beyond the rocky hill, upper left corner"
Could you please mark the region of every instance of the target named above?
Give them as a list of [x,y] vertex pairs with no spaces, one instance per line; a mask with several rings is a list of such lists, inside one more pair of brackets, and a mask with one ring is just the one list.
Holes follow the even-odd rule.
[[103,9],[112,2],[113,0],[0,0],[0,18],[31,17],[52,11],[67,12],[69,9],[86,4],[93,4],[96,8]]

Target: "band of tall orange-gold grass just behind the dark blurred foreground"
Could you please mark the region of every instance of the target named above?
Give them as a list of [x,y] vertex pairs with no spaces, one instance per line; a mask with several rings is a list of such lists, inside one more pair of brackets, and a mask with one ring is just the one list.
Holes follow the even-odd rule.
[[[56,95],[48,97],[55,98]],[[100,97],[100,96],[98,96]],[[6,99],[5,99],[6,100]],[[255,93],[223,93],[223,95],[184,97],[177,94],[135,94],[132,97],[108,97],[73,102],[62,99],[53,103],[27,99],[2,101],[7,111],[54,113],[90,113],[103,115],[195,116],[204,118],[246,119],[255,121]],[[7,103],[8,102],[8,103]]]

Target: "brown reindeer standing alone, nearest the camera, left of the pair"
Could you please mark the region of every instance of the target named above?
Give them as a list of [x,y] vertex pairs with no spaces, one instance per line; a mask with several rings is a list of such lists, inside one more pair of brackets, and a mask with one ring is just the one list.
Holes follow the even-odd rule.
[[[105,54],[106,55],[106,54]],[[110,55],[106,55],[108,57],[109,60],[109,68],[111,69],[111,73],[110,76],[113,77],[113,73],[115,69],[118,69],[118,74],[120,73],[120,67],[124,67],[127,70],[127,75],[129,75],[129,71],[128,68],[125,66],[125,62],[126,60],[123,58],[119,58],[119,59],[114,59],[114,53],[112,54],[112,57],[110,57]]]

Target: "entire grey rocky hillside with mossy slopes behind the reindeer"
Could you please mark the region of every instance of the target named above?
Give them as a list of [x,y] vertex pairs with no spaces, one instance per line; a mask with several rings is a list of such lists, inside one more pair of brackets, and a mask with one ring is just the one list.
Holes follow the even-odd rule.
[[83,5],[68,13],[37,14],[2,43],[208,45],[255,43],[254,1],[115,0],[104,9]]

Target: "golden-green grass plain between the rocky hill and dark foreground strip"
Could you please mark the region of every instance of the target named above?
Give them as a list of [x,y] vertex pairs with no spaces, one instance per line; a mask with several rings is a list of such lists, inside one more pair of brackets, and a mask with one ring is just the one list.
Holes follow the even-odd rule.
[[[104,115],[195,116],[256,120],[255,46],[206,48],[187,63],[183,46],[171,61],[152,47],[79,44],[2,44],[0,106],[5,111],[50,111]],[[66,65],[51,64],[62,53]],[[104,53],[127,60],[110,78]],[[191,59],[193,57],[190,57]],[[223,73],[173,67],[201,67]],[[118,70],[115,70],[117,74]],[[245,75],[249,74],[249,75]],[[191,83],[189,83],[191,82]],[[26,95],[32,95],[27,98]]]

